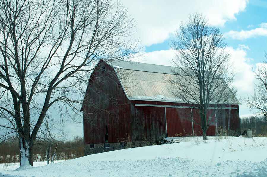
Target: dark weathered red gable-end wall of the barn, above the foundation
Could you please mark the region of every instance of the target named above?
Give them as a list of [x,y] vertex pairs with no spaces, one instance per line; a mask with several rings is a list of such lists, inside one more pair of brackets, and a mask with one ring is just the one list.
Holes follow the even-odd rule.
[[84,141],[125,141],[131,136],[130,103],[112,67],[102,63],[91,75],[83,104]]

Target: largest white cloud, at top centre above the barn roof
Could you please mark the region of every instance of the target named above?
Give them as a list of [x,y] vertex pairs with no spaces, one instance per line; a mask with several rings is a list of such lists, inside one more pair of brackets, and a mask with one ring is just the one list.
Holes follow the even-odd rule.
[[223,26],[235,15],[244,11],[247,0],[226,1],[176,1],[160,0],[122,1],[128,7],[128,14],[137,22],[139,30],[135,35],[144,46],[158,44],[170,38],[179,24],[188,20],[190,13],[203,13],[211,25]]

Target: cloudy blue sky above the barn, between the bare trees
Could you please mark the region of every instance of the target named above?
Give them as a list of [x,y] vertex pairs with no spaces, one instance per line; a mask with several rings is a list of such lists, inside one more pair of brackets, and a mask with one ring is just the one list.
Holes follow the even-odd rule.
[[[134,38],[141,41],[142,57],[138,62],[171,66],[175,40],[174,32],[190,13],[202,13],[212,26],[224,34],[227,50],[235,68],[233,86],[238,90],[240,117],[251,115],[244,98],[253,94],[256,83],[252,68],[256,69],[267,52],[267,1],[261,0],[122,0],[128,15],[136,21]],[[66,125],[65,131],[82,136],[82,124]]]

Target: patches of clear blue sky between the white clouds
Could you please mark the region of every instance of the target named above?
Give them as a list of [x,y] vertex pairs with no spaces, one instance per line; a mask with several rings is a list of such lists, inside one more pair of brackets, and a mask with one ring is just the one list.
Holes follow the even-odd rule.
[[[250,31],[255,28],[260,28],[260,24],[267,23],[267,1],[247,1],[246,8],[235,14],[236,19],[228,20],[223,26],[219,26],[222,33],[228,33],[229,31]],[[178,27],[179,24],[177,24]],[[175,30],[175,29],[174,29]],[[266,28],[267,30],[267,28]],[[168,50],[170,49],[169,43],[174,37],[170,37],[163,41],[162,43],[152,44],[145,47],[145,52],[153,52],[158,50]],[[234,49],[238,48],[239,45],[246,45],[249,47],[247,50],[247,57],[254,60],[255,62],[260,62],[264,57],[264,51],[267,50],[267,34],[254,35],[250,38],[244,39],[233,39],[230,36],[225,36],[225,41],[228,46]]]

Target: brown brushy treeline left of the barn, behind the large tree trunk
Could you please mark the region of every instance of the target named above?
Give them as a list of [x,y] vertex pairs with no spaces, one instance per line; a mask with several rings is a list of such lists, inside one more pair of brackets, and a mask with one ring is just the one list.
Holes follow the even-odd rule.
[[[47,151],[50,149],[49,156]],[[68,160],[84,156],[83,138],[77,136],[73,140],[37,140],[33,146],[33,161]],[[0,163],[20,162],[18,138],[14,137],[0,143]]]

